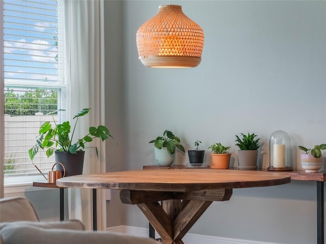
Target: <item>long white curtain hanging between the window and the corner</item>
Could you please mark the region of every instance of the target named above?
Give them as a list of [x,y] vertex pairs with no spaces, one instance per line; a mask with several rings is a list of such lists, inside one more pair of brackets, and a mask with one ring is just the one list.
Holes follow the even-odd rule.
[[[80,117],[74,137],[85,136],[90,126],[104,124],[104,16],[103,1],[65,1],[66,66],[70,84],[71,118],[83,108],[89,114]],[[83,173],[105,172],[105,145],[94,142],[98,148],[86,149]],[[79,219],[92,229],[92,192],[90,189],[71,189],[69,218]],[[97,191],[97,229],[106,229],[104,191]]]

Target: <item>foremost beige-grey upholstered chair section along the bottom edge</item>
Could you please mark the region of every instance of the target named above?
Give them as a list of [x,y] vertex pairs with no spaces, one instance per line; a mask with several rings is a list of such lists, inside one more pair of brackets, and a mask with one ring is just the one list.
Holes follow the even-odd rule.
[[155,244],[154,239],[133,237],[104,231],[45,229],[25,224],[4,225],[2,244]]

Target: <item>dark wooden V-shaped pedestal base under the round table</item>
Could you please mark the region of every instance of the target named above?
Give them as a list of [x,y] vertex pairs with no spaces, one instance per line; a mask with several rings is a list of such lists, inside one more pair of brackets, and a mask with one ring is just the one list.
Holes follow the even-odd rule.
[[[182,244],[184,235],[213,201],[227,201],[232,189],[182,192],[121,190],[122,203],[137,204],[165,244]],[[159,202],[162,201],[161,204]]]

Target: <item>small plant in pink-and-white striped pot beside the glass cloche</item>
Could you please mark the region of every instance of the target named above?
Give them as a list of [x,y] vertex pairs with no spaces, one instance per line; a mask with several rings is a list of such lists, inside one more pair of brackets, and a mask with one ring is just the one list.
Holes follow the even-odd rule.
[[301,154],[301,166],[306,172],[318,172],[322,167],[321,150],[326,149],[326,144],[315,145],[314,148],[306,148],[298,146],[299,149],[305,151]]

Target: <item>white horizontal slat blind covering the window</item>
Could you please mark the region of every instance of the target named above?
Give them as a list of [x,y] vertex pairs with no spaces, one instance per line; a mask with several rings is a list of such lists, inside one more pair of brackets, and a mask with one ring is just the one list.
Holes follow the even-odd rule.
[[[4,173],[38,173],[28,150],[46,115],[66,109],[63,2],[4,0]],[[65,112],[55,113],[57,122]],[[53,124],[53,123],[52,123]],[[54,163],[39,150],[34,164],[47,172]]]

